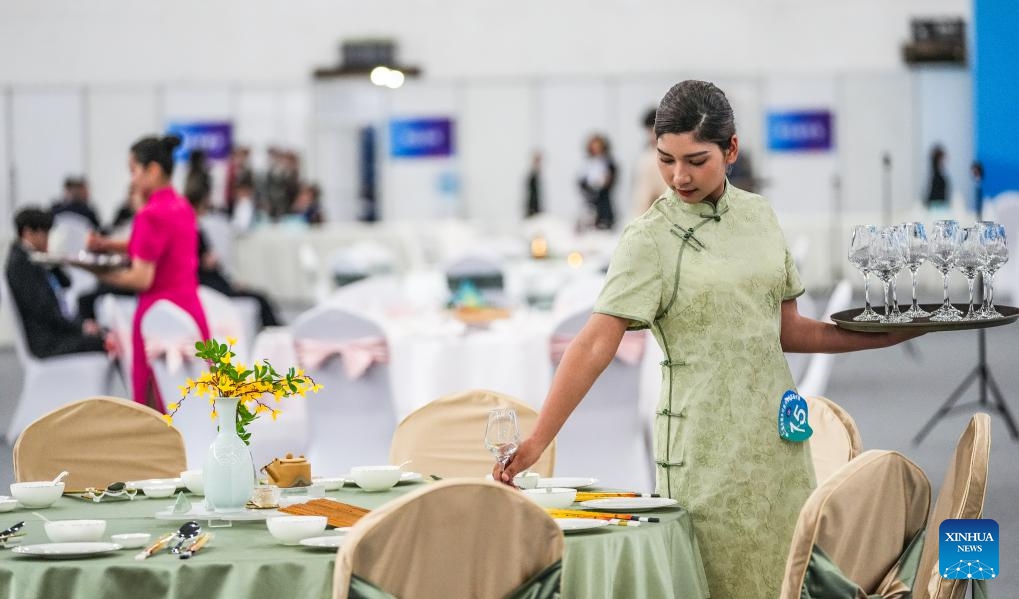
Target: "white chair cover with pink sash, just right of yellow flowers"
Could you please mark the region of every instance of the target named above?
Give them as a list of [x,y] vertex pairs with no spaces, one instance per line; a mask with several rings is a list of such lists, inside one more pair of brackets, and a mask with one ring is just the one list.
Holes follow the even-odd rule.
[[[294,321],[298,356],[305,340],[343,343],[358,339],[384,341],[375,323],[339,308],[314,308]],[[351,467],[385,464],[396,428],[389,365],[371,364],[363,374],[346,374],[344,359],[331,356],[321,365],[304,365],[322,391],[308,395],[311,431],[308,457],[316,472],[340,475]]]

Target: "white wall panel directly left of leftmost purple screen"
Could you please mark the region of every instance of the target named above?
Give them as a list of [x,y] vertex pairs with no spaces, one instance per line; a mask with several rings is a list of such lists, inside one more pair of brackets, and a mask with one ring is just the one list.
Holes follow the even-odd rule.
[[90,90],[88,174],[99,218],[108,223],[127,198],[127,153],[139,138],[158,133],[156,91],[151,88]]

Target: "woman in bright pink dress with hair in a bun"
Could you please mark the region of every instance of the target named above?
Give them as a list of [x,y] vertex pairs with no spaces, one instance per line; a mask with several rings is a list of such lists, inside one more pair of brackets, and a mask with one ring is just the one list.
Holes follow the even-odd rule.
[[[130,148],[131,185],[146,198],[135,216],[126,251],[130,268],[102,276],[104,282],[138,291],[138,310],[131,324],[131,393],[135,401],[165,411],[153,385],[152,369],[145,355],[142,318],[159,300],[169,300],[195,319],[202,338],[209,325],[198,298],[198,220],[186,199],[170,185],[173,150],[180,138],[143,138]],[[93,239],[91,247],[116,250],[116,242]],[[122,249],[122,248],[119,248]]]

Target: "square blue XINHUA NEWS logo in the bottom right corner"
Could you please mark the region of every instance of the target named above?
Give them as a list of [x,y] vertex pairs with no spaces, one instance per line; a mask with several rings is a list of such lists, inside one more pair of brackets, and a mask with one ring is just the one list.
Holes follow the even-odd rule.
[[987,581],[998,578],[998,523],[947,520],[937,530],[937,571],[942,578]]

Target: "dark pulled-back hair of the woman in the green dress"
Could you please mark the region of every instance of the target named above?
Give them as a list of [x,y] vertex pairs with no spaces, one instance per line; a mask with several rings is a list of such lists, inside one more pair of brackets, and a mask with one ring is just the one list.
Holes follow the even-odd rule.
[[697,141],[715,144],[726,152],[736,134],[733,107],[714,84],[680,81],[665,93],[655,114],[655,137],[665,133],[693,133]]

